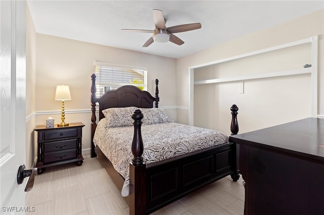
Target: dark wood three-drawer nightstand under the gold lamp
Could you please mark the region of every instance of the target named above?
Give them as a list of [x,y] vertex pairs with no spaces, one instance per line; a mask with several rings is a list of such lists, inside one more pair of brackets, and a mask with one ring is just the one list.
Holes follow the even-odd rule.
[[37,131],[37,174],[42,174],[44,168],[75,162],[82,165],[82,128],[83,123],[69,123],[69,126],[45,125],[36,126]]

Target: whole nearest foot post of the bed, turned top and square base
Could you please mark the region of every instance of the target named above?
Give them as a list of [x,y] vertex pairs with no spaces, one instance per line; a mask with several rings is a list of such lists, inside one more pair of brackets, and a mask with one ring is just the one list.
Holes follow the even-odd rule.
[[134,137],[132,143],[133,158],[130,163],[130,214],[145,214],[146,210],[146,166],[143,159],[143,140],[141,126],[143,114],[135,110],[132,114],[134,120]]

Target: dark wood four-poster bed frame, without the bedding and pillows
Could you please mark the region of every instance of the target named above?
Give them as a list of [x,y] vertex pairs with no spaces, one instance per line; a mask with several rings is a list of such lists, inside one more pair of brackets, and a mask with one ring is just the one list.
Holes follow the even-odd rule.
[[[116,90],[106,92],[101,97],[96,97],[96,75],[93,74],[91,86],[91,157],[100,160],[109,176],[119,190],[123,187],[122,177],[112,166],[101,149],[94,145],[93,139],[96,123],[96,103],[99,103],[99,121],[104,118],[102,110],[108,108],[158,108],[158,80],[155,80],[155,96],[138,87],[127,85]],[[237,134],[237,106],[232,105],[231,132]],[[125,197],[130,206],[130,214],[149,214],[164,207],[183,196],[231,175],[237,181],[238,174],[238,147],[233,142],[201,149],[187,154],[179,155],[160,162],[145,164],[143,162],[143,140],[141,124],[143,114],[136,110],[134,120],[134,137],[132,143],[133,158],[130,163],[130,194]]]

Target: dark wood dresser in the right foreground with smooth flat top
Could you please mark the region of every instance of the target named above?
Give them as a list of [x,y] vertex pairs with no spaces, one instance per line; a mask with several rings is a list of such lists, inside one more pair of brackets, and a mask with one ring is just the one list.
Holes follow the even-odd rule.
[[239,144],[245,214],[324,213],[324,119],[230,137]]

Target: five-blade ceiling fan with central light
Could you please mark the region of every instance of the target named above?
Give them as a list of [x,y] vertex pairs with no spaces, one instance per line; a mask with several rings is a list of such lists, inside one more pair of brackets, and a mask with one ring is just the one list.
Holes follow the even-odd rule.
[[143,47],[149,46],[153,41],[154,42],[173,42],[177,45],[182,45],[182,41],[179,37],[175,36],[174,33],[191,31],[201,28],[200,23],[191,23],[184,25],[177,25],[167,28],[166,19],[163,16],[161,10],[153,9],[153,20],[155,24],[154,30],[139,30],[139,29],[121,29],[122,31],[132,31],[132,32],[144,32],[144,33],[153,33],[152,37],[149,38],[143,45]]

